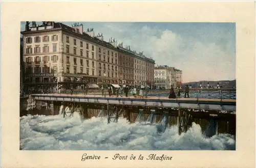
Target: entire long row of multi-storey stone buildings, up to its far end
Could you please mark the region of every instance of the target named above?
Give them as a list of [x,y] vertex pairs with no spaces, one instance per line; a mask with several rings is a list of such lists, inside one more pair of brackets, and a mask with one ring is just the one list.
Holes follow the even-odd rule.
[[82,24],[33,21],[31,25],[27,21],[21,34],[27,89],[82,88],[86,83],[151,85],[154,81],[154,60],[118,47],[114,40],[105,42],[102,34],[84,31]]

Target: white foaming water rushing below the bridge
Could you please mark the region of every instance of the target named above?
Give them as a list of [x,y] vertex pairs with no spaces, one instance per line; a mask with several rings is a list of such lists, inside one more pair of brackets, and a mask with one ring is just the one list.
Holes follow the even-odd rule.
[[74,113],[20,117],[20,150],[236,150],[236,141],[229,134],[207,138],[195,123],[179,135],[177,126],[159,132],[156,124],[124,118],[108,124],[103,117],[81,120]]

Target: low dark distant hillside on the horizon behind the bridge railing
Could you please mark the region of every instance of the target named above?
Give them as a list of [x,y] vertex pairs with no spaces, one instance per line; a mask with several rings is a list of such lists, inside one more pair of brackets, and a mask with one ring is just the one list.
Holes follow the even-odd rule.
[[199,87],[200,83],[202,82],[202,86],[207,86],[209,82],[209,86],[217,86],[219,82],[219,86],[223,88],[232,88],[233,86],[236,86],[236,80],[219,80],[219,81],[191,81],[187,83],[182,83],[182,87],[185,87],[186,85],[191,86],[193,88]]

